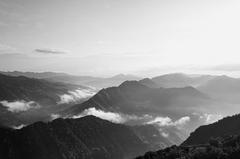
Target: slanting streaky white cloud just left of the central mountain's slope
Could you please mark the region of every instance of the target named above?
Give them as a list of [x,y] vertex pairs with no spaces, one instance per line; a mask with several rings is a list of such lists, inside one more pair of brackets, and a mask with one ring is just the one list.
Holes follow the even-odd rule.
[[75,91],[68,91],[68,94],[60,95],[60,101],[58,104],[68,104],[77,102],[81,99],[92,97],[96,94],[96,90],[93,89],[77,89]]

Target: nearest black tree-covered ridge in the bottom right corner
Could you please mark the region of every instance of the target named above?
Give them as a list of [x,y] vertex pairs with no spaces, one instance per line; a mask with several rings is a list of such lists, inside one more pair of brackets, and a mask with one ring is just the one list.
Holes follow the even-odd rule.
[[238,159],[240,136],[211,139],[206,144],[194,146],[171,146],[156,152],[147,152],[136,159]]

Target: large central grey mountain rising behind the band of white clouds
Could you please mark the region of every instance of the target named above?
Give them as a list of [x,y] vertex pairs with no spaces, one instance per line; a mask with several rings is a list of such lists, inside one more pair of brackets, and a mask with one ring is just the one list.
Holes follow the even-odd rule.
[[206,104],[209,97],[193,87],[149,88],[138,81],[126,81],[118,87],[102,89],[88,101],[73,106],[68,113],[78,114],[95,107],[127,114],[186,114],[187,109]]

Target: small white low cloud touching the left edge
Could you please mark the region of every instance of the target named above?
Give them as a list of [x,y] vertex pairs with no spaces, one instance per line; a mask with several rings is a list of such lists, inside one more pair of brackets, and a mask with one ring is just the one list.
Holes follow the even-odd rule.
[[24,100],[14,101],[14,102],[8,102],[8,101],[4,100],[4,101],[0,101],[0,104],[2,104],[10,112],[13,112],[13,113],[23,112],[23,111],[27,111],[31,108],[39,108],[40,107],[40,105],[38,105],[34,101],[27,102]]

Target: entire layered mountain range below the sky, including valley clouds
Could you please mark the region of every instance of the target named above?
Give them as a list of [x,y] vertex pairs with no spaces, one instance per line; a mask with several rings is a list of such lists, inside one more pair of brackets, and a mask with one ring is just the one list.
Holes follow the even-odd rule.
[[[0,136],[9,149],[2,144],[1,154],[5,158],[35,158],[31,154],[46,158],[52,151],[50,158],[94,159],[99,155],[133,158],[174,144],[181,145],[157,154],[172,150],[179,154],[185,149],[192,154],[195,152],[192,147],[196,147],[192,145],[206,148],[212,138],[228,143],[226,136],[240,135],[239,115],[206,125],[239,112],[239,83],[240,79],[228,76],[178,73],[140,79],[122,74],[99,78],[51,72],[3,72]],[[121,134],[110,133],[116,131],[112,129],[115,126],[121,127],[118,130]],[[89,130],[83,131],[86,129]],[[112,135],[111,140],[103,134]],[[122,143],[118,138],[129,141]],[[238,136],[230,138],[238,143]],[[44,145],[51,148],[47,150]],[[123,149],[123,145],[129,150]]]

